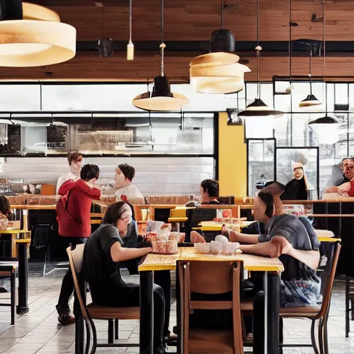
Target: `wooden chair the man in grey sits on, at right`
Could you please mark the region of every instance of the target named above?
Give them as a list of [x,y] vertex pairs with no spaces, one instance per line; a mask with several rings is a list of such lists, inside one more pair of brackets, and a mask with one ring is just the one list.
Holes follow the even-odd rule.
[[[283,344],[279,343],[281,348],[285,347],[313,347],[315,354],[328,354],[328,335],[327,335],[327,320],[330,310],[330,297],[332,295],[333,283],[335,280],[335,271],[337,269],[337,263],[339,258],[339,252],[341,249],[340,243],[335,244],[335,250],[328,259],[326,269],[322,276],[322,306],[304,306],[294,308],[281,308],[280,317],[283,318],[306,318],[311,319],[311,344]],[[253,304],[248,301],[241,304],[243,315],[252,315]],[[318,326],[318,342],[319,348],[316,344],[315,336],[315,324],[317,319],[319,320]]]

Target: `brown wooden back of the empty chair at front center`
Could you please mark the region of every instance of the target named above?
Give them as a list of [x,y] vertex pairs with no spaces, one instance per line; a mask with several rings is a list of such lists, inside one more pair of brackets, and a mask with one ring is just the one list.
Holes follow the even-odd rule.
[[[194,309],[232,310],[234,353],[243,353],[241,326],[240,283],[242,261],[207,262],[178,261],[180,279],[180,319],[184,353],[189,353],[189,315]],[[223,294],[232,292],[230,301],[193,301],[192,292]],[[217,328],[215,328],[217,330]]]

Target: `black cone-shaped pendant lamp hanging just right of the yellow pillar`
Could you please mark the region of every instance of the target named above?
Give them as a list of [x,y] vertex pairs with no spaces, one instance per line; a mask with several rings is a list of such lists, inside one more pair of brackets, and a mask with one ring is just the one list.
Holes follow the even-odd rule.
[[267,106],[260,97],[261,83],[259,82],[259,55],[262,47],[259,45],[259,0],[257,0],[257,47],[255,50],[257,53],[257,97],[254,102],[249,104],[245,110],[239,112],[238,115],[243,117],[264,117],[266,115],[281,117],[283,112],[271,109],[270,106]]

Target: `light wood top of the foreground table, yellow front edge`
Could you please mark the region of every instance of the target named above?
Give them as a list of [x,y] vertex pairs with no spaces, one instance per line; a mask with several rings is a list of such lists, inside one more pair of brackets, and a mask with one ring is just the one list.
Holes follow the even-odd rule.
[[258,272],[283,272],[283,263],[277,258],[259,257],[252,254],[216,256],[201,254],[194,247],[179,248],[177,254],[148,254],[139,265],[139,271],[175,270],[177,261],[243,261],[243,268]]

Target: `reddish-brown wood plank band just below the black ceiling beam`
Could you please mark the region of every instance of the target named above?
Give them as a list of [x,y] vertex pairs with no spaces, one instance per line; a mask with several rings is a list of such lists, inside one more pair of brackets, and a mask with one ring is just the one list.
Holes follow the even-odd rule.
[[[189,62],[195,53],[167,55],[165,73],[174,82],[189,82]],[[257,62],[249,59],[251,73],[245,80],[257,80]],[[112,57],[100,57],[98,53],[77,53],[75,58],[63,64],[39,68],[0,68],[0,80],[102,80],[102,81],[143,81],[153,80],[159,75],[160,55],[138,52],[133,62],[127,62],[125,53],[115,53]],[[322,76],[322,57],[313,58],[313,75]],[[53,73],[53,75],[48,75]],[[308,58],[292,58],[292,75],[308,74]],[[272,80],[273,75],[289,75],[289,57],[261,57],[260,79]],[[326,57],[326,76],[354,76],[354,57]],[[332,80],[332,79],[331,79]],[[337,78],[345,80],[345,78]]]

